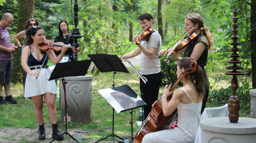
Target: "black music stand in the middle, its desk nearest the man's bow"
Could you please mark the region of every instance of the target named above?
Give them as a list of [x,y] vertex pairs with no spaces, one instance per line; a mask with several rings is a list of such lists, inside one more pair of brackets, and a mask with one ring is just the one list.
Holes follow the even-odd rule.
[[[89,58],[93,61],[93,63],[96,65],[96,67],[100,70],[100,72],[114,72],[113,73],[113,84],[112,86],[115,87],[115,74],[117,72],[126,72],[129,73],[128,69],[126,69],[124,63],[118,58],[117,55],[111,55],[111,54],[88,54]],[[109,136],[106,136],[103,139],[100,139],[96,141],[95,143],[102,141],[110,136],[113,138],[116,136],[119,139],[122,139],[121,137],[114,134],[114,111],[113,108],[113,115],[112,115],[112,134]],[[124,139],[122,139],[124,140]]]

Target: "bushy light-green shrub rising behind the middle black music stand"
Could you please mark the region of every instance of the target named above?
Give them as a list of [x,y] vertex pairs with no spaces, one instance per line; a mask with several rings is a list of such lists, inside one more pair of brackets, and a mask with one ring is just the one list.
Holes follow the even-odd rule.
[[[108,25],[108,27],[103,27],[102,24]],[[84,53],[117,54],[120,52],[121,47],[128,44],[124,40],[117,38],[119,34],[110,28],[110,24],[108,20],[100,18],[94,18],[88,22],[88,26],[82,29],[87,36],[80,39]]]

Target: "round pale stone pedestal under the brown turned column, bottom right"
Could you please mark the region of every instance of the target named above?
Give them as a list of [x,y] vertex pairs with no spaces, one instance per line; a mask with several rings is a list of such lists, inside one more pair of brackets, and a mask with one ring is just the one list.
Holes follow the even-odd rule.
[[202,143],[256,143],[256,119],[239,117],[230,123],[228,117],[200,121]]

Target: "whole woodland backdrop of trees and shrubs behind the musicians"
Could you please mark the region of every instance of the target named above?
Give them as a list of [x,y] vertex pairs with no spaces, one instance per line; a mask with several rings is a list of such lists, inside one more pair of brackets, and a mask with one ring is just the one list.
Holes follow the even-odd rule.
[[[204,25],[210,29],[214,40],[213,51],[209,53],[206,70],[210,81],[211,103],[226,103],[231,96],[231,76],[224,75],[224,68],[231,66],[226,62],[231,60],[229,42],[232,33],[233,9],[237,9],[238,46],[239,54],[245,69],[248,72],[237,76],[241,110],[248,116],[250,113],[249,90],[256,88],[255,62],[255,0],[77,0],[78,2],[78,28],[82,38],[78,39],[80,52],[78,60],[87,60],[87,54],[117,54],[121,55],[134,35],[141,31],[137,17],[143,13],[150,13],[154,18],[154,28],[161,34],[162,49],[169,48],[184,33],[184,18],[189,13],[198,13],[204,19]],[[9,26],[11,40],[16,33],[24,30],[25,23],[34,18],[44,29],[46,39],[53,39],[58,35],[60,20],[67,20],[69,32],[74,28],[74,0],[0,0],[0,15],[9,12],[14,16]],[[254,33],[254,34],[251,34]],[[20,40],[23,43],[22,40]],[[135,44],[129,49],[135,49]],[[13,53],[14,71],[12,83],[22,82],[20,63],[21,51]],[[176,60],[171,58],[165,64],[161,58],[163,85],[176,80]],[[94,67],[87,74],[97,75],[99,71]],[[224,81],[224,82],[222,82]]]

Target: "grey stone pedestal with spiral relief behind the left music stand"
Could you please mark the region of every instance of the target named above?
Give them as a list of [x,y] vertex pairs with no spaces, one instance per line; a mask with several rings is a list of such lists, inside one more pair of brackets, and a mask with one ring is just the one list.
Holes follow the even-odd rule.
[[[88,123],[92,120],[92,75],[65,77],[68,115],[71,122]],[[59,79],[61,120],[64,122],[65,100],[62,80]]]

